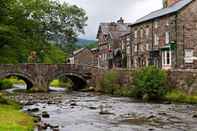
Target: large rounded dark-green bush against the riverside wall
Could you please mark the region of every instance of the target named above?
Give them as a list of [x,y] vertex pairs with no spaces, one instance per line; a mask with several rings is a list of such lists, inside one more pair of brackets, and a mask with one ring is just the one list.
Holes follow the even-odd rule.
[[132,96],[144,100],[160,99],[167,93],[167,75],[154,66],[134,73]]

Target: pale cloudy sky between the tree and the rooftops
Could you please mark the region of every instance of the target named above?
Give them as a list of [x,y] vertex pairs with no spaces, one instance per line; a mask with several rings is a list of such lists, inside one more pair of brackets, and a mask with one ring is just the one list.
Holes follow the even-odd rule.
[[85,35],[80,38],[95,40],[99,23],[115,22],[123,17],[133,23],[140,17],[162,8],[162,0],[62,0],[83,8],[88,16]]

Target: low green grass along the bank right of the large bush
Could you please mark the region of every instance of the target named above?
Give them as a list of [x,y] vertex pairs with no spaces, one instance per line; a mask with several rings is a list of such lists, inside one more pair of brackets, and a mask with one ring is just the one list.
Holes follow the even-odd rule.
[[165,99],[171,102],[197,104],[197,94],[188,95],[184,91],[178,89],[169,91]]

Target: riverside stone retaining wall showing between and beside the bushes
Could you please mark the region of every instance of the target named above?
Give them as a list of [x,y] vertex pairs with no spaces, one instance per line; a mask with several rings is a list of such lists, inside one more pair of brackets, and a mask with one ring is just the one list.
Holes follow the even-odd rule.
[[[119,72],[119,84],[132,87],[133,74],[135,70],[116,70]],[[103,74],[97,77],[97,88],[99,89],[99,80],[103,79]],[[167,71],[168,86],[170,88],[179,88],[188,94],[197,92],[197,70],[171,70]]]

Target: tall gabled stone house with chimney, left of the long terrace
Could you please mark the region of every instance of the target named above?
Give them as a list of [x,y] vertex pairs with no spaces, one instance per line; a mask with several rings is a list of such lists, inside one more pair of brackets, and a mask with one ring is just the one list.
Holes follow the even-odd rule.
[[97,33],[98,64],[103,68],[122,67],[120,36],[129,31],[129,23],[120,18],[117,22],[101,23]]

